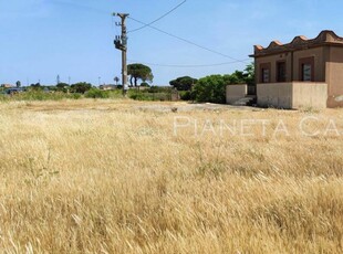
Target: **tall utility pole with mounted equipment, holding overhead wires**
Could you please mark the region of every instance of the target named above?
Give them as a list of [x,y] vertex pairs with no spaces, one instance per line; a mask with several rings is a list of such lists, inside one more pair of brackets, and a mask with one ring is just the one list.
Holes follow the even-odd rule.
[[127,34],[126,34],[126,18],[128,17],[127,13],[113,13],[113,15],[117,15],[122,19],[122,22],[119,25],[122,25],[122,35],[115,36],[114,44],[115,49],[122,51],[122,82],[123,82],[123,95],[126,96],[126,92],[128,89],[127,85]]

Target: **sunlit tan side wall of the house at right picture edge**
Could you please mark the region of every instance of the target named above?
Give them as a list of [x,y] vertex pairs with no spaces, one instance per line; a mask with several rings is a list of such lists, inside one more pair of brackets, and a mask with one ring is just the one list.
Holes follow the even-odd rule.
[[343,107],[343,50],[331,46],[326,63],[328,107]]

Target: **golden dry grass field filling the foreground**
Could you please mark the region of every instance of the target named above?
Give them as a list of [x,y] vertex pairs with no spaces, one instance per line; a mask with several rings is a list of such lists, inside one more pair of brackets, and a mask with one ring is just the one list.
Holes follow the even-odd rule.
[[343,253],[342,109],[2,103],[0,150],[1,253]]

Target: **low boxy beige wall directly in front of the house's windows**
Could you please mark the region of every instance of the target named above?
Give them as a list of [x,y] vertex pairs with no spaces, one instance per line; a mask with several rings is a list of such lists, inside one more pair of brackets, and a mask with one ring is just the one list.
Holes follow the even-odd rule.
[[328,85],[325,83],[268,83],[257,85],[258,105],[297,109],[301,107],[325,108]]

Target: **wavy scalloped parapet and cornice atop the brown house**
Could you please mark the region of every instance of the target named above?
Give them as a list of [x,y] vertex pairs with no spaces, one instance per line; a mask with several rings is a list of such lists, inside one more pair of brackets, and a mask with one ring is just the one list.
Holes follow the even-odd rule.
[[305,50],[326,44],[343,46],[343,38],[340,38],[333,31],[324,30],[315,39],[308,39],[303,35],[300,35],[295,36],[292,42],[287,44],[282,44],[279,41],[272,41],[268,47],[254,45],[254,54],[250,56],[278,54],[282,52]]

